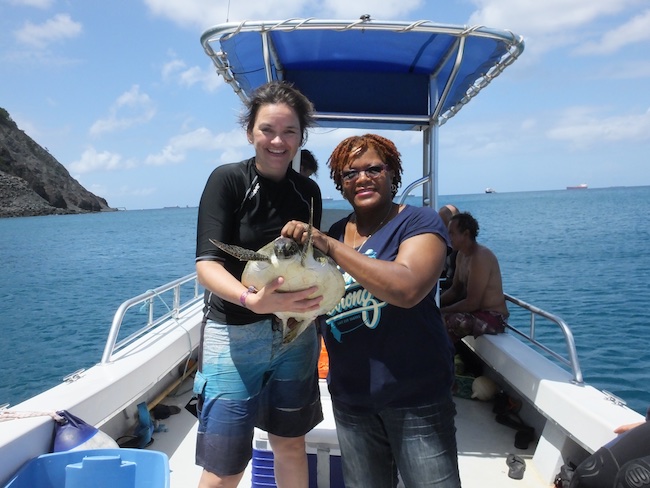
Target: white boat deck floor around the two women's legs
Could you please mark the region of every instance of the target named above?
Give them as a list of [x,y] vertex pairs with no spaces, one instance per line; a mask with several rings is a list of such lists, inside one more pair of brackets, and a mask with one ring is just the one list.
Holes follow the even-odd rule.
[[[191,398],[191,382],[179,388],[184,392],[177,397],[168,397],[166,405],[181,407],[181,413],[161,421],[166,432],[154,433],[154,442],[149,449],[168,454],[171,470],[171,487],[188,488],[198,485],[201,468],[194,464],[197,419],[184,407]],[[530,459],[535,445],[527,450],[514,446],[515,431],[494,420],[492,404],[478,400],[455,398],[458,415],[456,429],[458,456],[462,485],[464,488],[540,488],[549,487],[535,472]],[[328,402],[324,401],[327,417]],[[330,414],[331,415],[331,414]],[[327,423],[327,420],[324,421]],[[318,427],[317,427],[318,429]],[[508,477],[506,464],[508,454],[517,454],[527,463],[524,478],[515,480]],[[239,485],[251,486],[250,472],[247,472]]]

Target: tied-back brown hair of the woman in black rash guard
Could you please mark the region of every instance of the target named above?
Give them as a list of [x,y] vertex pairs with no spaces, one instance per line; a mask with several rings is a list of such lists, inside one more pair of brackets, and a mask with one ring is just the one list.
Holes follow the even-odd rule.
[[246,112],[240,117],[241,125],[250,133],[260,108],[263,105],[278,103],[284,103],[296,112],[300,123],[301,143],[304,144],[307,141],[307,128],[314,124],[314,105],[292,84],[284,81],[271,81],[253,92],[250,100],[246,102]]

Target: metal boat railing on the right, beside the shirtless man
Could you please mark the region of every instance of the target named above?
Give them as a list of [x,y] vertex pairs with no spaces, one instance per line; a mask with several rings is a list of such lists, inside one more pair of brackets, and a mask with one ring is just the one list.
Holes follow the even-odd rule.
[[[508,329],[510,329],[513,333],[517,334],[520,338],[530,342],[535,347],[541,349],[546,354],[550,355],[560,363],[570,368],[571,372],[573,373],[573,382],[579,385],[583,384],[584,380],[582,377],[582,370],[580,369],[580,361],[578,360],[578,352],[576,350],[575,340],[573,339],[573,333],[571,332],[571,329],[569,328],[568,324],[557,315],[553,315],[552,313],[546,312],[545,310],[542,310],[541,308],[538,308],[535,305],[526,303],[523,300],[508,295],[507,293],[504,293],[504,296],[507,301],[514,303],[515,305],[521,307],[522,309],[530,312],[528,331],[525,332],[523,329],[517,328],[512,324],[508,324]],[[566,356],[542,344],[537,339],[536,337],[537,324],[535,320],[537,317],[543,317],[558,325],[562,334],[564,335]]]

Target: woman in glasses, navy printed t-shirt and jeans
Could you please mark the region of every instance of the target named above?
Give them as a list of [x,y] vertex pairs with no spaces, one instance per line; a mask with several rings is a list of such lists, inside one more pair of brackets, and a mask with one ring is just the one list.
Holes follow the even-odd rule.
[[[436,305],[449,249],[429,207],[393,203],[402,164],[375,134],[343,140],[330,175],[354,212],[314,245],[344,271],[340,305],[319,318],[347,488],[458,488],[453,346]],[[302,222],[282,234],[305,239]]]

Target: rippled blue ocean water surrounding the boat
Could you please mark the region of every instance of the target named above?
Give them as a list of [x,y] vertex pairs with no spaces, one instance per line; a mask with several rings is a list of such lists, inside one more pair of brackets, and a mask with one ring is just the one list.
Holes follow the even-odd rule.
[[[446,203],[477,218],[506,293],[569,324],[585,380],[645,413],[650,187],[441,196]],[[349,212],[344,201],[324,207],[323,227]],[[192,273],[196,215],[166,208],[0,219],[0,405],[99,362],[123,301]]]

